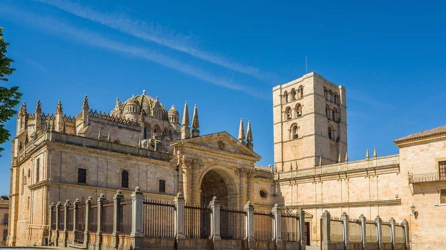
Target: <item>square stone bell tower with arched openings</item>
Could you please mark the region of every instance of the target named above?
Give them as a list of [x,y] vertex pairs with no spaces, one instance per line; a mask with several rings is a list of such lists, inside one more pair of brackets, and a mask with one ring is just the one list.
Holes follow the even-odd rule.
[[314,72],[273,88],[274,164],[277,171],[344,161],[346,89]]

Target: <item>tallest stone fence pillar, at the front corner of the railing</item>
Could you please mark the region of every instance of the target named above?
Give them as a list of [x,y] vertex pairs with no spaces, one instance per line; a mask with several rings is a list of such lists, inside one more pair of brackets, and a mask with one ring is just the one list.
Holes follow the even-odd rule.
[[133,250],[140,249],[142,247],[142,206],[144,201],[144,195],[142,194],[139,186],[135,187],[135,191],[132,192],[132,232],[130,233],[131,246]]

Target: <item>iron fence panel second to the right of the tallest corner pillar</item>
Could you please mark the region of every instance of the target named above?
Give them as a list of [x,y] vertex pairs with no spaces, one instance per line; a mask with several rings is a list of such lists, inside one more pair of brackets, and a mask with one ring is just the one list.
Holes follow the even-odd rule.
[[184,234],[187,238],[208,239],[211,232],[208,207],[184,206]]

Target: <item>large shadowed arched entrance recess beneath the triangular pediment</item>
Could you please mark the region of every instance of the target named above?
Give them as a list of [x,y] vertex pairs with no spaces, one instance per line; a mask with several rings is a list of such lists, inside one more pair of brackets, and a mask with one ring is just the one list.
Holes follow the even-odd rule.
[[207,205],[217,196],[222,206],[237,206],[237,189],[231,176],[218,169],[209,170],[200,184],[200,204]]

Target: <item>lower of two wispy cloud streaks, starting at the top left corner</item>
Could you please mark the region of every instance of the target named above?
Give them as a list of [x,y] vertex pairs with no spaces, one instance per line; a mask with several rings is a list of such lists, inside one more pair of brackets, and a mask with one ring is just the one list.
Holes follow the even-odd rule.
[[5,15],[11,15],[13,17],[13,20],[15,21],[24,22],[27,25],[38,27],[45,32],[54,33],[62,38],[77,40],[87,45],[96,46],[126,56],[142,58],[147,61],[155,62],[165,67],[180,71],[184,74],[191,75],[198,79],[202,79],[208,83],[217,86],[238,91],[244,91],[257,98],[265,98],[262,95],[248,91],[249,89],[247,87],[239,83],[227,80],[224,77],[214,75],[205,70],[197,68],[193,65],[157,53],[155,51],[151,51],[144,47],[133,46],[127,43],[119,42],[87,29],[79,29],[53,18],[43,17],[33,13],[24,12],[22,10],[16,9],[14,7],[9,7],[6,5],[4,5],[0,9],[0,13],[3,13]]

